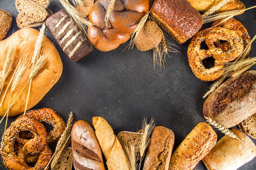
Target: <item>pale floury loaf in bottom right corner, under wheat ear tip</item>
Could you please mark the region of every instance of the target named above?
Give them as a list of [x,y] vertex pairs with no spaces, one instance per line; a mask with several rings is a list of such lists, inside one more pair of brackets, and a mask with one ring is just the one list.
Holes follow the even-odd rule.
[[243,142],[225,135],[202,159],[208,170],[236,170],[256,157],[256,146],[245,133],[231,129]]

